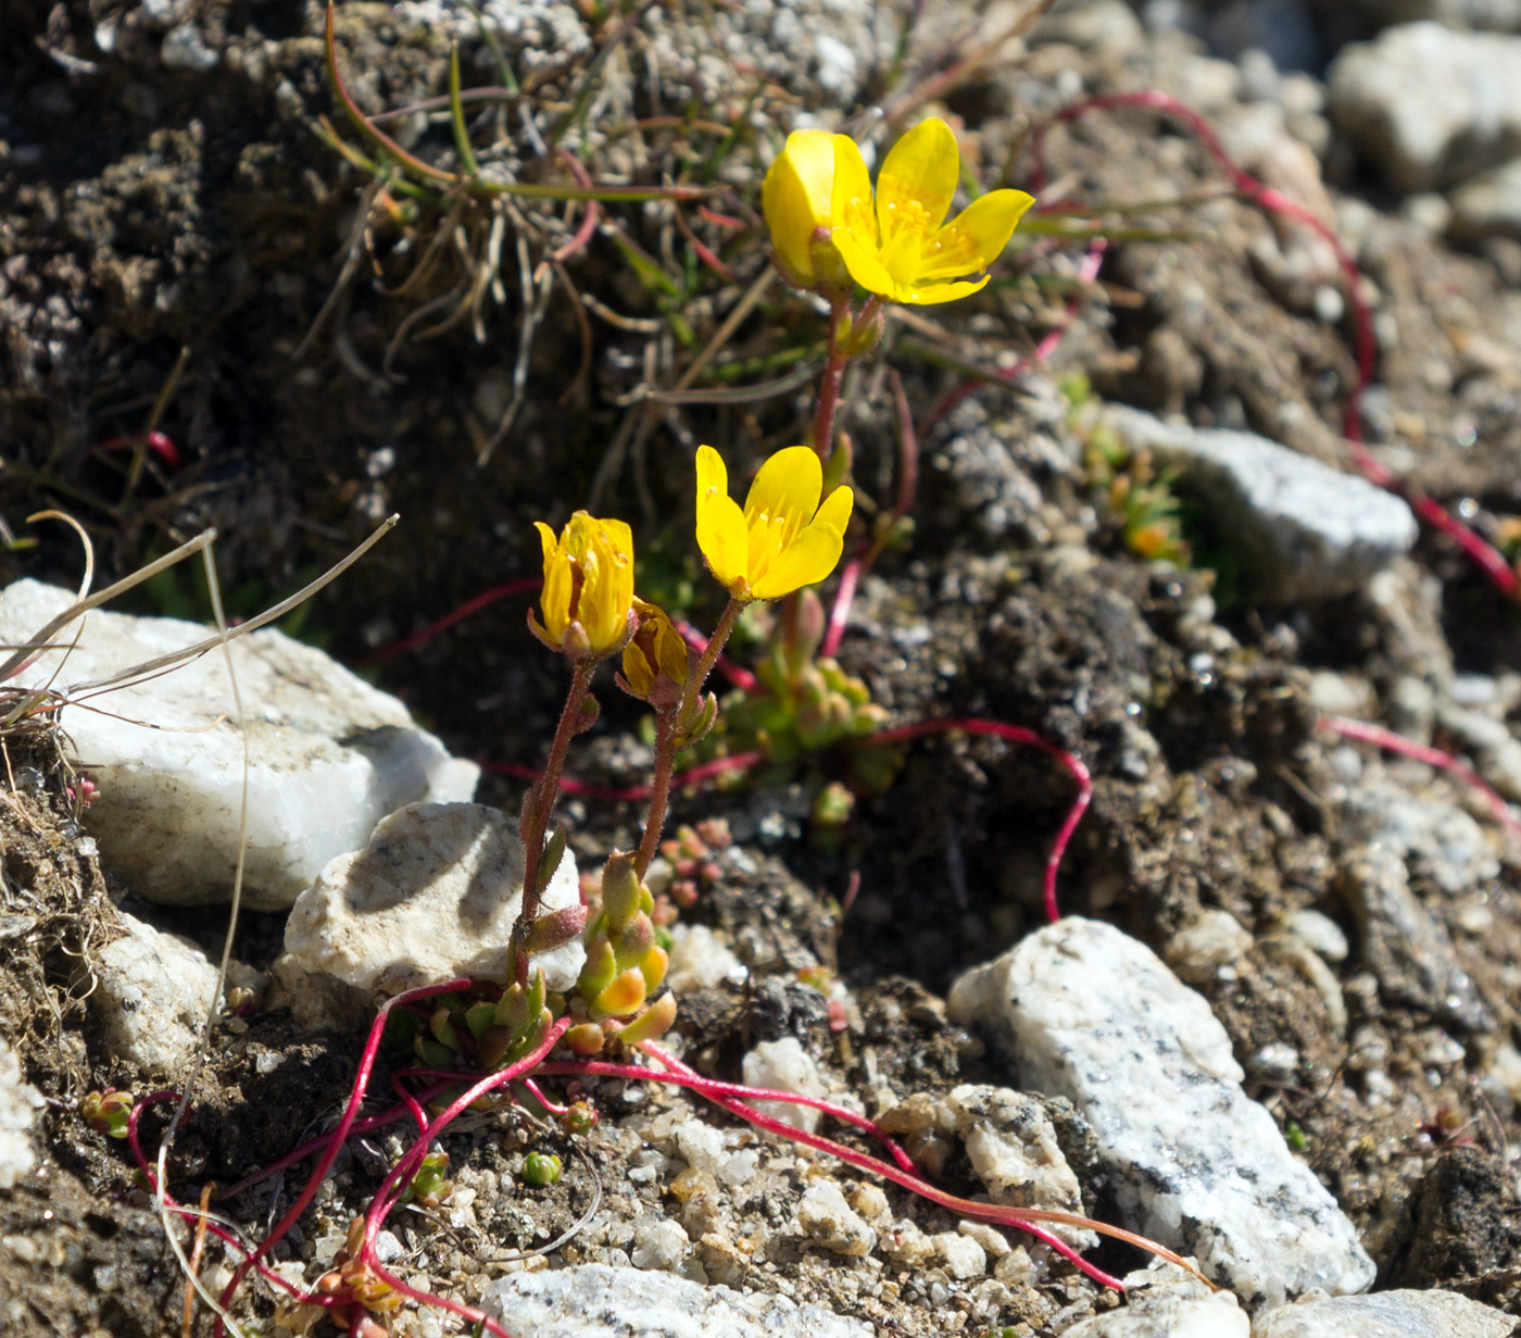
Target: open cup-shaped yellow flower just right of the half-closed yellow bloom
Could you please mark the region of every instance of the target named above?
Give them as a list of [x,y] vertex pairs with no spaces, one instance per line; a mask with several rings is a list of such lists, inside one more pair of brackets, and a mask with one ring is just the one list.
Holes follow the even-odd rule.
[[776,600],[835,569],[855,495],[837,487],[818,505],[823,489],[818,455],[788,446],[760,466],[741,511],[722,457],[697,448],[697,546],[736,600]]

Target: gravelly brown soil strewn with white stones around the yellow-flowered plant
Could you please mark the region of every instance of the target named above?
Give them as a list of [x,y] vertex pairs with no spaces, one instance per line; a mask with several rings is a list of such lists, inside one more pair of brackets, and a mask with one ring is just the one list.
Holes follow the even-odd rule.
[[[67,708],[64,734],[6,722],[0,1333],[210,1330],[204,1309],[183,1321],[166,1228],[90,1093],[192,1082],[172,1187],[228,1190],[338,1116],[371,991],[490,974],[510,915],[472,887],[520,871],[493,808],[426,833],[415,810],[392,819],[388,839],[453,881],[430,892],[444,912],[389,938],[348,936],[370,866],[332,860],[403,804],[516,813],[500,767],[541,760],[560,665],[522,629],[528,595],[374,656],[534,575],[531,522],[586,504],[634,524],[645,594],[710,624],[692,448],[739,470],[799,440],[823,339],[806,300],[760,286],[759,174],[794,125],[881,154],[932,111],[983,186],[1054,209],[989,289],[894,314],[847,378],[858,510],[890,511],[899,479],[890,370],[919,489],[840,661],[894,725],[996,718],[1091,769],[1068,918],[1046,927],[1040,900],[1072,782],[1037,749],[926,737],[868,785],[872,760],[840,746],[692,790],[675,820],[703,834],[663,874],[683,903],[674,1044],[704,1073],[879,1117],[952,1192],[1161,1239],[1223,1291],[1161,1270],[1121,1301],[1042,1245],[611,1079],[583,1084],[602,1114],[587,1136],[514,1110],[455,1125],[449,1193],[399,1210],[383,1256],[534,1335],[1509,1335],[1515,817],[1337,722],[1451,750],[1521,801],[1515,603],[1358,476],[1355,315],[1322,239],[1224,193],[1176,119],[1033,128],[1161,90],[1329,224],[1372,315],[1375,461],[1509,551],[1521,9],[1094,0],[1024,29],[1018,5],[951,0],[488,0],[484,23],[491,43],[447,0],[342,5],[336,49],[365,111],[402,110],[386,128],[441,170],[458,37],[491,180],[566,184],[564,148],[599,183],[713,193],[610,202],[583,231],[581,205],[365,170],[303,0],[0,9],[0,638],[67,601],[35,580],[79,580],[71,531],[23,524],[43,507],[85,527],[97,586],[216,525],[242,618],[403,518],[283,620],[306,645],[237,642],[249,903],[208,1046],[243,784],[218,656]],[[969,371],[976,391],[952,394]],[[768,393],[726,394],[753,385]],[[135,451],[148,429],[170,449]],[[204,621],[204,580],[187,563],[114,607]],[[198,635],[93,615],[67,668],[9,687]],[[593,788],[560,807],[583,871],[637,836],[639,807],[602,793],[649,760],[637,711],[599,696],[570,761]],[[820,820],[829,782],[855,787],[844,824]],[[166,1123],[144,1116],[149,1149]],[[332,1265],[403,1148],[351,1142],[275,1251],[287,1277]],[[551,1151],[564,1177],[526,1183]],[[298,1184],[218,1209],[260,1236]],[[1091,1257],[1147,1262],[1113,1242]],[[210,1245],[201,1270],[227,1277]],[[303,1324],[254,1288],[237,1320]],[[388,1326],[458,1330],[415,1308]]]

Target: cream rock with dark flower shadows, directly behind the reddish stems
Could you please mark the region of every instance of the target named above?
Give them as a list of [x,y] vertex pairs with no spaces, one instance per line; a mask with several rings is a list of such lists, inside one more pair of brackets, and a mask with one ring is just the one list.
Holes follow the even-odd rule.
[[[481,804],[411,804],[383,817],[362,851],[335,859],[297,898],[287,957],[389,994],[456,976],[505,979],[523,900],[523,845],[513,828]],[[580,900],[575,857],[566,851],[543,907]],[[584,962],[580,938],[534,957],[551,989],[569,989]]]

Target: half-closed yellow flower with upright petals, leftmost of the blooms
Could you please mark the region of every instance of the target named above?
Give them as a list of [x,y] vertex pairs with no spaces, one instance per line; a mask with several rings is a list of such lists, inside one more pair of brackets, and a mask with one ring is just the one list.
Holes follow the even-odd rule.
[[543,639],[572,659],[602,659],[630,630],[634,536],[622,521],[576,511],[560,537],[535,521],[545,548]]

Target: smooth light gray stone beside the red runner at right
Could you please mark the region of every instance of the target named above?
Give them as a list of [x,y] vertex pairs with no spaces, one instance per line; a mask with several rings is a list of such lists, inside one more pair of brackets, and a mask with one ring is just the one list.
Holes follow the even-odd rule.
[[1130,408],[1104,419],[1205,498],[1252,574],[1249,594],[1264,603],[1352,594],[1416,540],[1399,498],[1265,437],[1174,426]]

